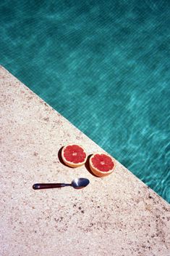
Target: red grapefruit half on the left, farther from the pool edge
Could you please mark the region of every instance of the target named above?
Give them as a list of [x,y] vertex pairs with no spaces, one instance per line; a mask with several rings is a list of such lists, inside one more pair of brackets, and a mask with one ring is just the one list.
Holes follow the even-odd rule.
[[67,164],[69,167],[80,167],[82,164],[85,164],[88,155],[81,145],[68,144],[62,148],[61,158],[64,164]]

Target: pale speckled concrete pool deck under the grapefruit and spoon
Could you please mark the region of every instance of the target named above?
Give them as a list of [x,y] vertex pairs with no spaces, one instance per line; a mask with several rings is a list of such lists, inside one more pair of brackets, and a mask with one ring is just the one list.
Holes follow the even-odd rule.
[[[11,73],[0,67],[0,255],[168,256],[170,207],[119,162],[108,177],[72,169],[63,145],[103,151]],[[34,191],[34,183],[70,183],[82,190]]]

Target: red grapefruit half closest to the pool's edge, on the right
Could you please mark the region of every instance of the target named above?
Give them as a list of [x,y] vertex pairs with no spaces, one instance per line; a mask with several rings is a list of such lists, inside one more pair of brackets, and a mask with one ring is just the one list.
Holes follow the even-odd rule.
[[106,153],[94,153],[89,160],[90,170],[98,177],[110,175],[116,167],[114,159]]

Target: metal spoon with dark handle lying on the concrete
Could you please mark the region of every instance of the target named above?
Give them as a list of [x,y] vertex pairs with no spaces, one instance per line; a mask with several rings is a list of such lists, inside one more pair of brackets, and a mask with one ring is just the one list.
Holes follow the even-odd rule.
[[36,183],[33,185],[33,189],[45,189],[45,188],[62,188],[66,186],[72,186],[73,188],[79,189],[79,188],[85,188],[86,185],[88,185],[90,181],[86,179],[85,177],[79,177],[75,180],[72,180],[72,183]]

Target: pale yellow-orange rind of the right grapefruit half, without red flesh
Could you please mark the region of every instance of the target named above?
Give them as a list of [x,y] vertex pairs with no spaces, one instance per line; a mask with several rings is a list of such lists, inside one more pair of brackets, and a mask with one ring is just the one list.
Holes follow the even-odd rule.
[[[93,162],[92,162],[92,160],[93,160],[93,157],[95,157],[96,155],[105,155],[105,156],[109,156],[109,158],[111,159],[111,161],[114,163],[114,167],[112,168],[112,169],[110,169],[109,171],[107,171],[107,172],[103,172],[103,171],[101,171],[101,170],[99,170],[98,168],[96,168],[96,167],[94,167],[94,165],[93,165]],[[92,156],[90,156],[90,159],[89,159],[89,166],[90,166],[90,170],[91,170],[91,172],[93,172],[93,174],[95,175],[95,176],[97,176],[97,177],[106,177],[106,176],[108,176],[108,175],[111,175],[111,173],[112,172],[114,172],[114,169],[115,169],[115,167],[116,167],[116,162],[115,162],[115,160],[114,160],[114,158],[113,157],[111,157],[109,154],[107,154],[107,153],[93,153],[93,155]]]

